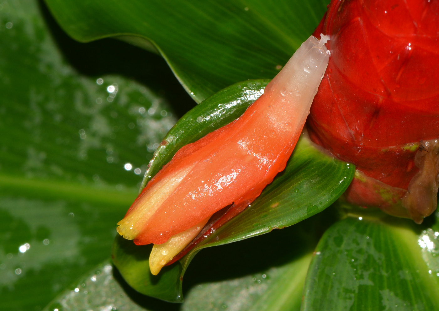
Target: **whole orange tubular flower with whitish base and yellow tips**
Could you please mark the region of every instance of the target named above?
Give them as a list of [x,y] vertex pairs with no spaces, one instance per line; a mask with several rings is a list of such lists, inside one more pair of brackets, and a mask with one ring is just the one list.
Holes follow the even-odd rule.
[[309,37],[241,117],[181,148],[147,184],[117,230],[138,245],[169,244],[153,249],[163,258],[150,265],[169,262],[213,213],[251,203],[284,170],[328,64],[327,40]]

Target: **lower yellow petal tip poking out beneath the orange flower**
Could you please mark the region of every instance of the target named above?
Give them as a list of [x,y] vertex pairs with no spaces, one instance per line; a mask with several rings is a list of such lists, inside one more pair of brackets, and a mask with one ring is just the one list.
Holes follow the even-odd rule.
[[196,224],[194,227],[180,232],[163,244],[154,244],[149,255],[149,270],[151,274],[158,275],[158,272],[173,260],[174,256],[180,253],[200,233],[210,217]]

